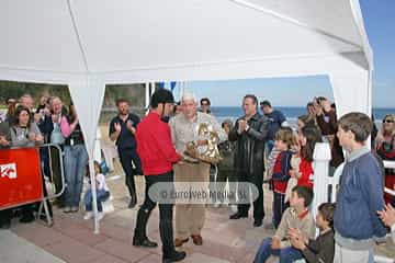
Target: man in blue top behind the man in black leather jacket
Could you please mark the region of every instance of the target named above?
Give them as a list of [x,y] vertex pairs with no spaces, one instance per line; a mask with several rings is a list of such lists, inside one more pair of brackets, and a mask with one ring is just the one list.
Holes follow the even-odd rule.
[[263,115],[269,121],[268,142],[267,142],[267,148],[266,148],[267,157],[269,157],[269,155],[274,146],[275,133],[281,127],[286,127],[289,125],[286,123],[286,118],[285,118],[284,114],[280,111],[273,110],[273,107],[271,106],[271,103],[269,101],[262,101],[260,103],[260,107],[262,110]]

